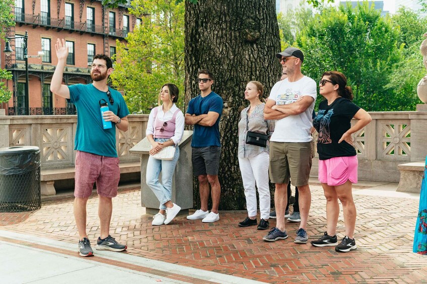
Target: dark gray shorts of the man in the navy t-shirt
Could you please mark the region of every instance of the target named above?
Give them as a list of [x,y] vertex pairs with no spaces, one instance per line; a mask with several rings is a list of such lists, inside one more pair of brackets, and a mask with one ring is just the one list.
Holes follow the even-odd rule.
[[221,147],[192,147],[191,161],[194,175],[218,175]]

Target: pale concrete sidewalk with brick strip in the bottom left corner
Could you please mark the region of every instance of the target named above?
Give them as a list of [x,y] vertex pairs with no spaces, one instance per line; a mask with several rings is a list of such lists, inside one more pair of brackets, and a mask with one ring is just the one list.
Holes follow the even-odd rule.
[[[94,247],[94,245],[93,245]],[[80,257],[77,244],[0,230],[0,283],[259,283],[127,253]]]

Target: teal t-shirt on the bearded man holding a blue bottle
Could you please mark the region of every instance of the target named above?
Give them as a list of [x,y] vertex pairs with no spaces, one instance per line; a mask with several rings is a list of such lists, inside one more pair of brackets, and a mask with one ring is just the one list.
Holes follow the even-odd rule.
[[108,87],[114,104],[110,104],[107,92],[100,91],[93,84],[69,85],[70,102],[77,109],[77,130],[74,139],[74,150],[96,155],[117,157],[115,148],[115,125],[110,129],[102,127],[99,101],[104,99],[108,108],[119,118],[129,115],[128,107],[121,94]]

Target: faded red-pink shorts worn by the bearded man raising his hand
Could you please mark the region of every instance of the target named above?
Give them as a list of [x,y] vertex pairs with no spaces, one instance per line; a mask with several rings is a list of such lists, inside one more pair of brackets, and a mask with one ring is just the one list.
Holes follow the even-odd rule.
[[118,162],[119,159],[115,157],[77,151],[74,196],[79,198],[90,197],[93,183],[96,182],[96,192],[100,196],[115,197],[120,180]]

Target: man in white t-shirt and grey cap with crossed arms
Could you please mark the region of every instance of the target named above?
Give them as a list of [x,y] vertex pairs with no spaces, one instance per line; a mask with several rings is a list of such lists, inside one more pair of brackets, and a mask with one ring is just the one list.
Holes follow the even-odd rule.
[[276,184],[274,204],[277,223],[263,240],[272,242],[288,237],[284,216],[290,178],[292,185],[298,187],[301,216],[294,242],[307,243],[307,218],[312,199],[309,187],[313,158],[310,129],[317,85],[313,79],[301,73],[304,60],[301,50],[288,47],[277,53],[276,57],[288,77],[273,86],[264,109],[265,119],[276,120],[276,128],[270,139],[269,171],[271,182]]

